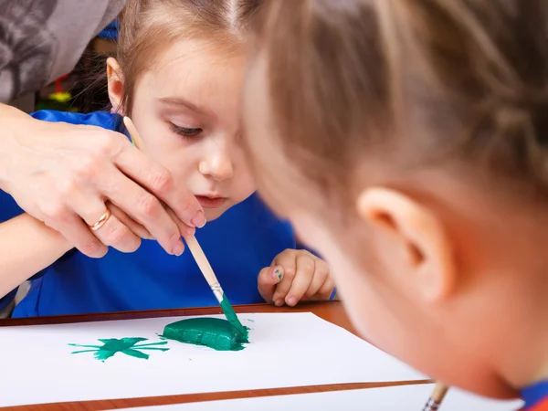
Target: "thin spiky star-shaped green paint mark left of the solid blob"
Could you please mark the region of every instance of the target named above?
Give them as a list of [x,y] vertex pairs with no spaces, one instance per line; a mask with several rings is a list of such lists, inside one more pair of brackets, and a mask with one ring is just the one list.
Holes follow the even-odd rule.
[[143,342],[148,340],[147,338],[142,337],[132,337],[132,338],[107,338],[99,339],[98,341],[102,342],[102,345],[82,345],[69,343],[68,345],[72,347],[80,348],[90,348],[90,350],[80,350],[74,351],[75,353],[93,353],[93,356],[103,363],[111,358],[115,353],[124,353],[134,358],[142,358],[143,360],[148,360],[149,355],[147,353],[142,353],[143,350],[156,350],[156,351],[168,351],[169,348],[157,347],[157,345],[165,345],[166,341],[163,342],[148,342],[146,344],[139,344],[138,342]]

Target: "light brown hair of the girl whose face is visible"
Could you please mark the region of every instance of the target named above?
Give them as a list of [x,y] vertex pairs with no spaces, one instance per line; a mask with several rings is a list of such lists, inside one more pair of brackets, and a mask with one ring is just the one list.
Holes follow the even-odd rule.
[[205,40],[230,53],[241,50],[248,23],[262,0],[130,0],[121,14],[116,58],[131,112],[135,82],[165,47],[178,39]]

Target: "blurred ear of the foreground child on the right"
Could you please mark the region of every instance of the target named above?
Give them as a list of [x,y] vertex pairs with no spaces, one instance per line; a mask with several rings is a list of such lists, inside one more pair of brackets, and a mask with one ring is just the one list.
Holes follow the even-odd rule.
[[395,267],[411,273],[423,299],[443,300],[455,288],[456,264],[442,222],[427,207],[387,188],[368,188],[357,201],[359,215],[385,236],[384,251],[397,258]]

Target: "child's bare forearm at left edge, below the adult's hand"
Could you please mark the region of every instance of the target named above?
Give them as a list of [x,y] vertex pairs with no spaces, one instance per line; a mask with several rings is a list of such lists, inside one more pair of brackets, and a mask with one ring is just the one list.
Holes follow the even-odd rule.
[[27,214],[0,224],[0,297],[70,248],[65,237]]

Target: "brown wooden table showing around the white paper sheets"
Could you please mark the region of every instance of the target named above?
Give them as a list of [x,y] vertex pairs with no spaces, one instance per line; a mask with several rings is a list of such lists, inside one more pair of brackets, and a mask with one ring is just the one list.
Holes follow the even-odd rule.
[[[311,311],[326,321],[331,321],[346,330],[356,333],[353,329],[351,322],[349,321],[342,303],[339,301],[332,302],[320,302],[320,303],[308,303],[301,304],[298,308],[278,308],[269,304],[255,304],[245,306],[235,306],[237,312],[307,312]],[[132,311],[132,312],[114,312],[105,314],[87,314],[87,315],[70,315],[70,316],[58,316],[58,317],[39,317],[39,318],[26,318],[26,319],[5,319],[0,320],[1,326],[25,326],[25,325],[37,325],[37,324],[59,324],[70,322],[85,322],[85,321],[112,321],[112,320],[131,320],[138,318],[152,318],[152,317],[180,317],[185,315],[210,315],[220,314],[220,308],[196,308],[196,309],[182,309],[182,310],[158,310],[158,311]],[[29,365],[32,366],[32,365]],[[31,370],[29,370],[31,372]],[[54,377],[55,372],[52,372]],[[16,406],[10,409],[16,410],[104,410],[112,408],[124,408],[132,406],[158,406],[163,404],[179,404],[179,403],[191,403],[197,401],[209,401],[219,399],[232,399],[232,398],[245,398],[254,396],[266,396],[266,395],[287,395],[287,394],[302,394],[302,393],[318,393],[323,391],[341,391],[351,390],[359,388],[372,388],[380,386],[390,385],[416,385],[416,384],[430,384],[429,380],[416,380],[416,381],[400,381],[391,383],[364,383],[364,384],[334,384],[334,385],[311,385],[300,387],[288,387],[288,388],[271,388],[260,390],[245,390],[245,391],[232,391],[226,393],[204,393],[204,394],[188,394],[188,395],[167,395],[167,396],[153,396],[143,398],[121,398],[111,400],[99,400],[99,401],[79,401],[72,403],[58,403],[47,404],[37,406]],[[1,387],[0,387],[1,390]],[[1,395],[1,394],[0,394]]]

